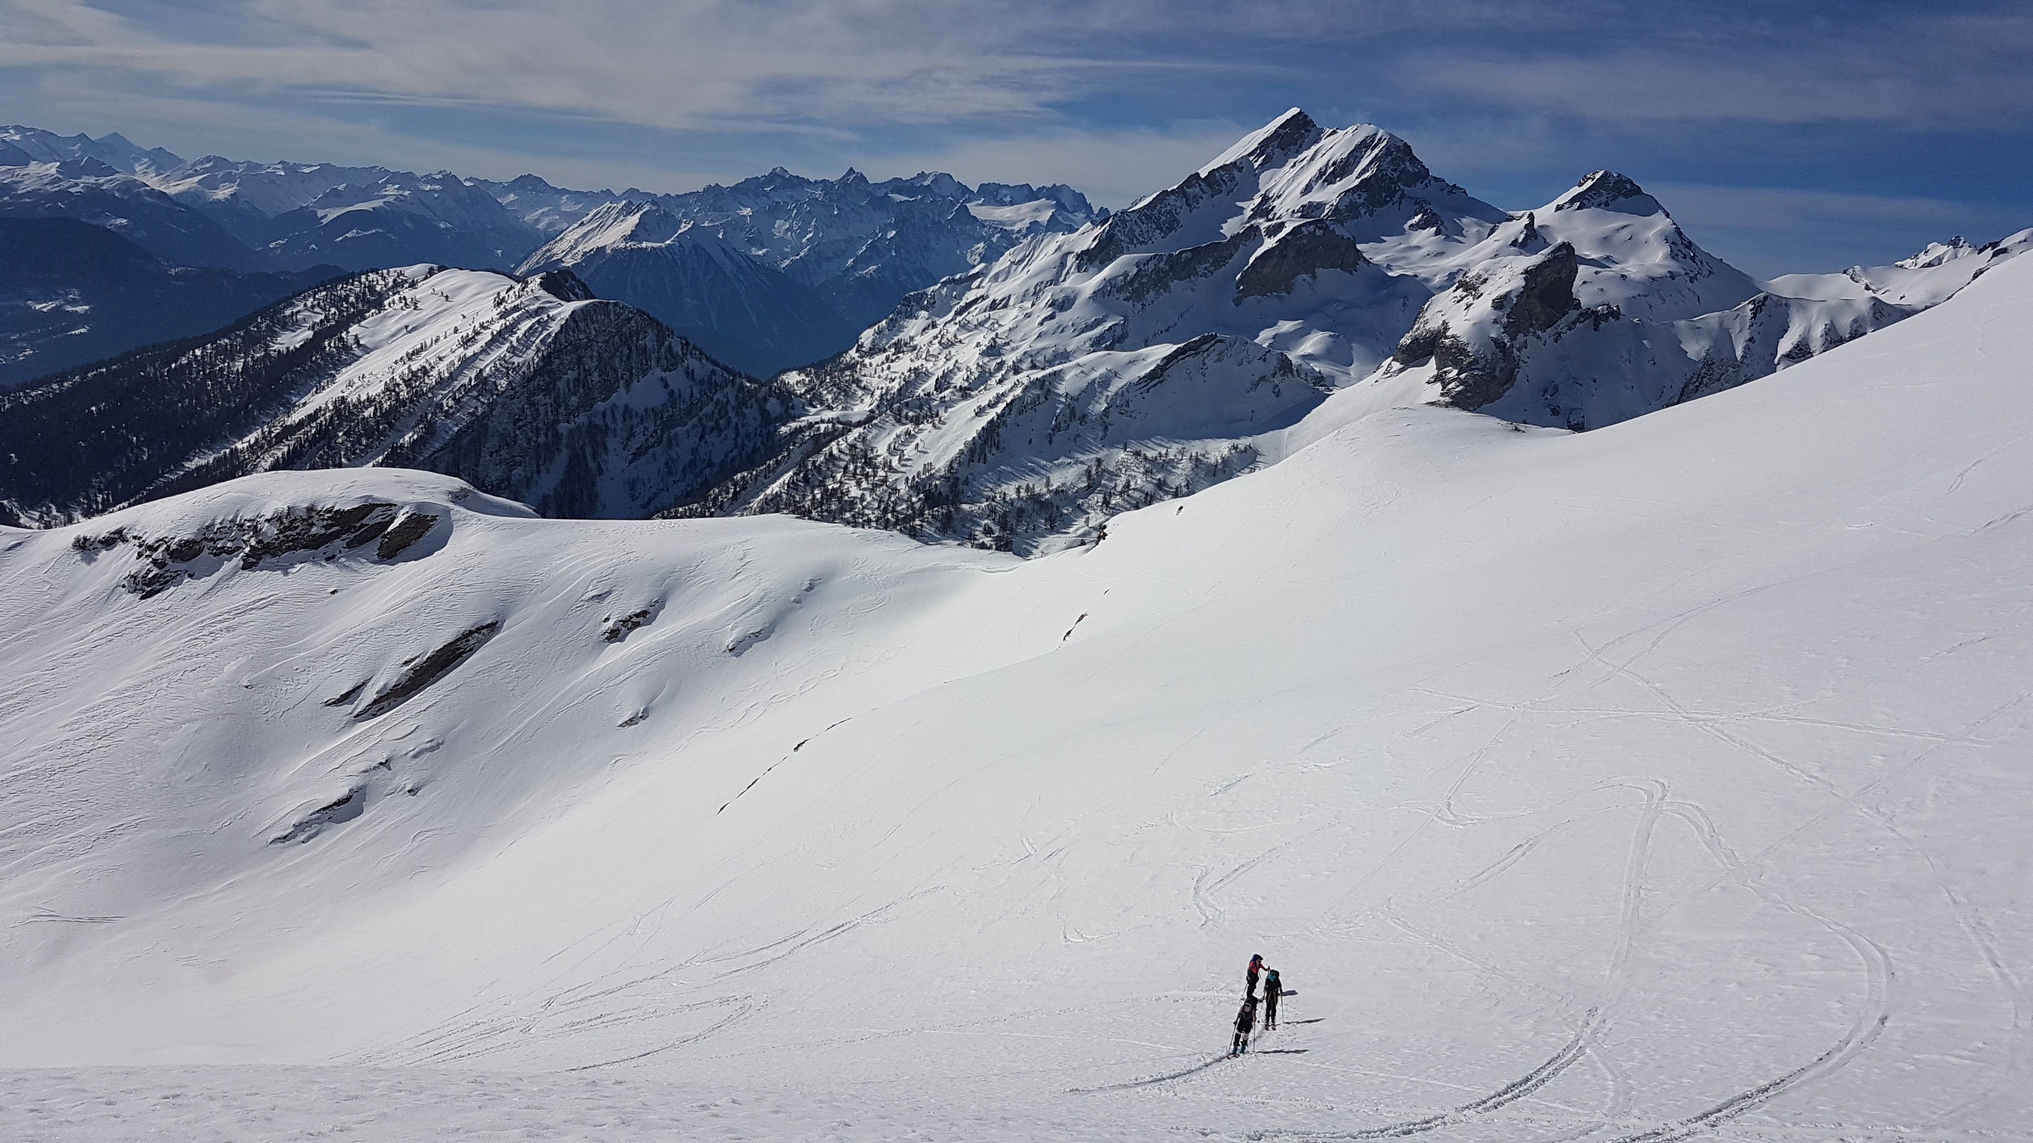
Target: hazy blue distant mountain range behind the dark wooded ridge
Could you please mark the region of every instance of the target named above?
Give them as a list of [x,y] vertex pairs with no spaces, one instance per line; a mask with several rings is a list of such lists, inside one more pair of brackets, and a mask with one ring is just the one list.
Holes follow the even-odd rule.
[[[616,226],[618,216],[638,226]],[[1071,187],[968,187],[939,173],[872,183],[858,171],[805,179],[777,169],[675,195],[571,191],[535,175],[496,183],[183,161],[118,134],[0,128],[0,218],[77,218],[177,266],[571,266],[604,297],[758,374],[846,350],[903,295],[994,260],[1027,234],[1102,216]],[[673,244],[679,232],[691,234]]]

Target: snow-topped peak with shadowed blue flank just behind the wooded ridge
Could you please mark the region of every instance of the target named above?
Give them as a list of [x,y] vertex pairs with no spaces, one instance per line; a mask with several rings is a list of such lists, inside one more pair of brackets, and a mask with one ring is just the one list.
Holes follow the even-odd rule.
[[616,201],[545,242],[520,273],[569,268],[760,376],[840,352],[854,329],[811,289],[655,203]]

